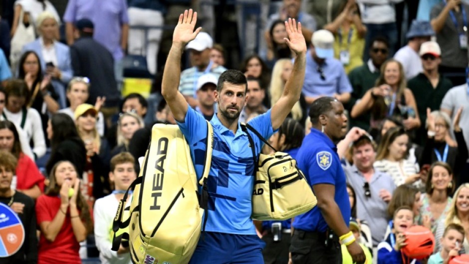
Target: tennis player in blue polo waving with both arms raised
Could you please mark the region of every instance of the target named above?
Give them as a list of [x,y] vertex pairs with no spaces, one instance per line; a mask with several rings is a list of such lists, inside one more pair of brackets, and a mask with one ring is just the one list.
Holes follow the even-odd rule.
[[[184,46],[201,30],[199,27],[194,32],[196,20],[197,12],[193,14],[192,9],[186,10],[179,17],[163,74],[161,93],[189,143],[196,173],[200,178],[207,149],[204,143],[207,137],[207,123],[178,91]],[[296,53],[293,71],[277,103],[265,114],[248,122],[265,138],[269,138],[280,127],[298,101],[304,79],[306,43],[300,23],[297,26],[294,19],[289,19],[285,26],[288,33],[285,41]],[[250,218],[254,183],[252,152],[247,134],[241,130],[238,121],[248,96],[247,81],[242,72],[228,70],[220,75],[217,90],[214,91],[218,112],[210,121],[214,127],[214,143],[208,178],[206,233],[199,241],[190,264],[263,264],[263,243],[257,237]],[[251,137],[257,155],[262,148],[262,142],[252,133]]]

